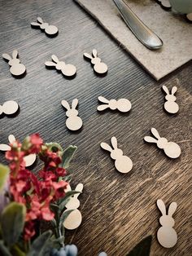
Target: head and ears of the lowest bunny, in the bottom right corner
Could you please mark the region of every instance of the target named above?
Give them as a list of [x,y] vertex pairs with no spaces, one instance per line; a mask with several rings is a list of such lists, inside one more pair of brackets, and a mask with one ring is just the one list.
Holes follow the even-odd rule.
[[159,208],[159,210],[162,214],[162,216],[159,218],[159,223],[161,224],[161,226],[163,226],[163,227],[173,227],[174,224],[175,224],[175,221],[172,218],[172,214],[174,214],[174,212],[177,209],[177,203],[172,202],[171,205],[169,205],[168,214],[166,214],[166,207],[164,205],[164,201],[159,199],[157,201],[157,206],[158,206],[158,208]]

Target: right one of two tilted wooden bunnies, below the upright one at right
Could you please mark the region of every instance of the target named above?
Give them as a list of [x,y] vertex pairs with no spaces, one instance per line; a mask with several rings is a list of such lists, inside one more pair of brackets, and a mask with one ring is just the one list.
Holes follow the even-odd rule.
[[149,143],[156,143],[158,148],[164,149],[165,154],[170,158],[177,158],[181,155],[181,148],[177,143],[168,142],[168,139],[159,136],[158,131],[155,128],[151,128],[151,133],[155,138],[146,136],[144,140]]

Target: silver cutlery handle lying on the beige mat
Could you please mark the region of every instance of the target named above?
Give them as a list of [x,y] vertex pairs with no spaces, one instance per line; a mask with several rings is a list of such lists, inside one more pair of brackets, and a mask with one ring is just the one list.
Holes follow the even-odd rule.
[[144,46],[151,50],[157,50],[164,42],[140,20],[123,0],[113,0],[120,11],[120,15],[129,29]]

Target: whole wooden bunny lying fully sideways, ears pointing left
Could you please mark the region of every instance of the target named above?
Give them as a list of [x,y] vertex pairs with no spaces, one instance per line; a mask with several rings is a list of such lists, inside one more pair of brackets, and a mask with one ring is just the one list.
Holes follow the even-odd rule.
[[99,96],[98,100],[105,103],[98,106],[98,111],[103,111],[106,108],[110,108],[111,110],[118,109],[120,112],[129,112],[131,109],[131,103],[128,99],[106,99],[103,96]]

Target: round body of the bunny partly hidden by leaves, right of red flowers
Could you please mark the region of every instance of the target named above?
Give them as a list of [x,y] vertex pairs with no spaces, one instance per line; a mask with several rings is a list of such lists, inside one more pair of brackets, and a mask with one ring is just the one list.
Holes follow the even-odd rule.
[[76,229],[81,225],[82,215],[79,210],[73,210],[65,219],[63,226],[69,230]]

